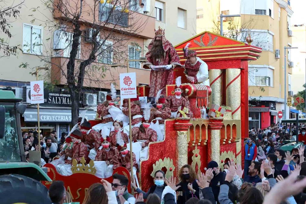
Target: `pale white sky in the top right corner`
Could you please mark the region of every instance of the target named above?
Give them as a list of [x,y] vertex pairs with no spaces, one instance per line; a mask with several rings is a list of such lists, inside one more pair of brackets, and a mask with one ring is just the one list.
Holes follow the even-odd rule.
[[293,11],[293,15],[291,17],[291,24],[306,25],[306,15],[305,15],[306,0],[291,0],[290,6]]

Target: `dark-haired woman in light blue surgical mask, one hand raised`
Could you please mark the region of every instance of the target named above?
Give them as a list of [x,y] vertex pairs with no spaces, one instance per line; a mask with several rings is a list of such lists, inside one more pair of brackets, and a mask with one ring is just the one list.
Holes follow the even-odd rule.
[[132,186],[134,187],[135,191],[137,191],[137,193],[142,193],[144,195],[144,199],[147,199],[147,197],[150,194],[153,194],[153,193],[156,194],[161,199],[162,198],[162,191],[167,186],[164,183],[164,181],[165,181],[165,173],[162,170],[158,170],[154,174],[154,185],[151,186],[151,188],[149,189],[148,192],[144,192],[144,191],[140,190],[139,188],[137,188],[135,180],[134,180],[134,183],[132,184]]

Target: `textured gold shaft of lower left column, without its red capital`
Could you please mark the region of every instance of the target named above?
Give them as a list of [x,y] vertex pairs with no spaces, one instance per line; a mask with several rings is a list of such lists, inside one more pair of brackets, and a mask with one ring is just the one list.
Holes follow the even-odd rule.
[[[181,169],[182,166],[188,164],[188,134],[187,131],[177,131],[177,168]],[[178,173],[179,171],[177,171]],[[178,178],[178,175],[177,175]]]

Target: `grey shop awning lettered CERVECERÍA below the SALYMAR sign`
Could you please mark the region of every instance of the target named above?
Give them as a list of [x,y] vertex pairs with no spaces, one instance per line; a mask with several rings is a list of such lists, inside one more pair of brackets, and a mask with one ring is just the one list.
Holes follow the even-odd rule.
[[[80,113],[83,111],[85,110],[80,110]],[[94,110],[87,110],[85,117],[87,120],[94,120],[96,112]],[[39,120],[40,122],[71,122],[71,109],[40,108]],[[37,109],[25,109],[24,121],[37,122]]]

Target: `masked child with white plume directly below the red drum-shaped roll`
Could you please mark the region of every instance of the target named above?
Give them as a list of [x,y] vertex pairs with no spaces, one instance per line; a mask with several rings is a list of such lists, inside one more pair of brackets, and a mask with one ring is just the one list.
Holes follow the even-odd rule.
[[175,83],[175,95],[166,98],[166,106],[171,109],[171,118],[192,117],[189,101],[182,95],[183,87],[181,85],[181,76],[176,78]]

